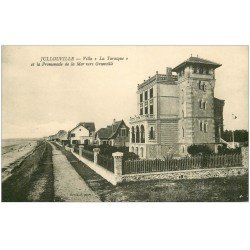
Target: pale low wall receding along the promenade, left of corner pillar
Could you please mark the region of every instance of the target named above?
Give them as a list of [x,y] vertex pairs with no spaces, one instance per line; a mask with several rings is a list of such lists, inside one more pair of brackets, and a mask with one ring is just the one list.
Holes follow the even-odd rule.
[[79,159],[79,161],[86,164],[89,168],[91,168],[97,174],[102,176],[104,179],[106,179],[112,185],[116,185],[119,182],[119,180],[117,179],[117,177],[114,173],[112,173],[112,172],[108,171],[107,169],[103,168],[102,166],[100,166],[92,161],[89,161],[86,158],[76,154],[75,152],[73,152],[73,150],[71,152],[76,158]]

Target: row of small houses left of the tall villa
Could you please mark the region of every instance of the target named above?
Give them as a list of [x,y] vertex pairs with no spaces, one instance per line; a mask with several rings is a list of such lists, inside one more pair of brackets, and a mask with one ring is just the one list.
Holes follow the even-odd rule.
[[103,145],[129,146],[129,128],[123,120],[113,120],[111,125],[96,131],[94,122],[80,122],[70,131],[59,130],[48,137],[62,145]]

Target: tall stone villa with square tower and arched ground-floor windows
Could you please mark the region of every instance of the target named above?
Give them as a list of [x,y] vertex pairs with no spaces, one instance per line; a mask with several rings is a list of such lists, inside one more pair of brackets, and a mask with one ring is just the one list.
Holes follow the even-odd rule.
[[[186,155],[192,144],[216,149],[224,101],[214,98],[220,64],[190,57],[138,85],[138,115],[130,118],[130,152],[141,158]],[[217,112],[215,112],[215,107]],[[217,109],[218,107],[218,109]]]

